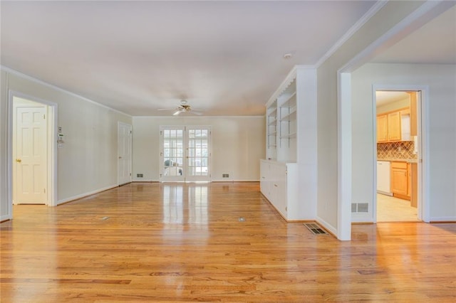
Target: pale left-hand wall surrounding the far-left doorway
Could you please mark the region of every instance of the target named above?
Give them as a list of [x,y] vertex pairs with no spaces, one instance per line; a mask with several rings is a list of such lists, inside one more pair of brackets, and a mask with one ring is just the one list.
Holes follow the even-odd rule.
[[62,203],[117,185],[118,121],[132,118],[95,102],[9,70],[1,71],[1,218],[11,216],[6,198],[8,92],[13,90],[58,106],[65,146],[58,149],[57,197]]

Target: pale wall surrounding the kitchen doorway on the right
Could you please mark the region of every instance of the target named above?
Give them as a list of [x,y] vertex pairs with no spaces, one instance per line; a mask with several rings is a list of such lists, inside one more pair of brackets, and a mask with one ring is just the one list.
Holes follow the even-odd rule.
[[[400,75],[400,77],[398,77]],[[373,85],[427,85],[430,220],[456,220],[456,65],[367,64],[352,73],[353,202],[370,203],[373,188]],[[358,215],[357,215],[358,216]],[[375,214],[359,218],[372,221]]]

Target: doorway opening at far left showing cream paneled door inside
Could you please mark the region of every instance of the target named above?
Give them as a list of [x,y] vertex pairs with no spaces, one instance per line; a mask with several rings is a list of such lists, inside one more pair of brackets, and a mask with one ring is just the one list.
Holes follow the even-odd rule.
[[56,105],[10,92],[9,109],[9,201],[52,206]]

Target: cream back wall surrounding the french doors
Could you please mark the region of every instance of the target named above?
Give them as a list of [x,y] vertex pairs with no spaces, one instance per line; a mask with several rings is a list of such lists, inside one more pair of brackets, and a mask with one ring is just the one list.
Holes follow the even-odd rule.
[[160,125],[211,126],[212,181],[259,181],[264,117],[133,117],[133,181],[160,180]]

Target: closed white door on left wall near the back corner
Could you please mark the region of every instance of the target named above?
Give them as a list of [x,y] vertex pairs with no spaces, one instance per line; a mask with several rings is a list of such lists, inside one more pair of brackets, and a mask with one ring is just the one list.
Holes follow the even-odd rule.
[[118,123],[118,184],[127,184],[132,181],[132,126]]

